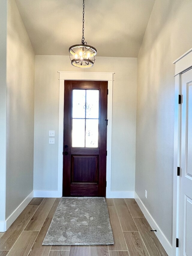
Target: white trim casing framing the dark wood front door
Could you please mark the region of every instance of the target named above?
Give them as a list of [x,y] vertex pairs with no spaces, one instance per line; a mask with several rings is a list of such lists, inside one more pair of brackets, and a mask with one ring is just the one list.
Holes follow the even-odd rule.
[[63,120],[64,120],[64,80],[100,80],[108,81],[107,101],[107,187],[106,197],[113,197],[111,191],[111,146],[112,146],[112,101],[113,101],[113,74],[103,72],[70,72],[58,71],[59,73],[59,131],[58,131],[58,191],[57,197],[62,196],[63,177]]

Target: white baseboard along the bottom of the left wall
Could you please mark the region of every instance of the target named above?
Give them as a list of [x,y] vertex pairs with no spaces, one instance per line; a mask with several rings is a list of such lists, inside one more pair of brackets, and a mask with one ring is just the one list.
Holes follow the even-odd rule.
[[33,191],[19,204],[19,206],[11,213],[11,215],[5,220],[0,221],[0,232],[5,232],[10,225],[16,220],[19,214],[25,209],[28,203],[33,198]]

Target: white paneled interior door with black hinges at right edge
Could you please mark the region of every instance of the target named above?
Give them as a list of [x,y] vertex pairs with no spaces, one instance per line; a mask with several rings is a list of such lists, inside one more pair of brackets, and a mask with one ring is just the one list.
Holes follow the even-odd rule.
[[192,69],[181,75],[179,256],[192,256]]

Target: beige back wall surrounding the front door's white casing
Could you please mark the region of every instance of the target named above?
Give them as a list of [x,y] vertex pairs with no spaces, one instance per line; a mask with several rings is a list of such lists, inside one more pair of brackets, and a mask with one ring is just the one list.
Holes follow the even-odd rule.
[[[57,190],[57,71],[115,72],[112,124],[112,190],[134,191],[137,58],[97,57],[94,67],[80,70],[68,56],[39,55],[35,59],[34,190]],[[49,144],[55,130],[55,144]]]

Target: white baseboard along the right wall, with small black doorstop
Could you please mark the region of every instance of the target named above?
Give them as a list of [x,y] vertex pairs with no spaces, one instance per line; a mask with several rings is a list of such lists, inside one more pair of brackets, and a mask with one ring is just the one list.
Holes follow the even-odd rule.
[[169,256],[172,256],[172,254],[173,254],[172,245],[167,240],[166,236],[164,235],[164,233],[162,232],[162,230],[160,229],[158,224],[155,222],[152,215],[149,213],[148,209],[145,207],[145,205],[143,204],[143,202],[141,201],[140,197],[137,195],[136,192],[135,192],[135,200],[136,200],[137,204],[139,205],[140,209],[142,210],[147,221],[149,222],[149,225],[152,227],[152,229],[157,230],[157,232],[154,232],[154,233],[157,236],[157,238],[159,239],[159,241],[161,242],[163,248],[165,249],[165,251],[167,252],[167,254]]

